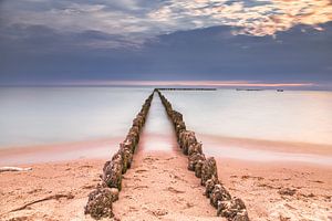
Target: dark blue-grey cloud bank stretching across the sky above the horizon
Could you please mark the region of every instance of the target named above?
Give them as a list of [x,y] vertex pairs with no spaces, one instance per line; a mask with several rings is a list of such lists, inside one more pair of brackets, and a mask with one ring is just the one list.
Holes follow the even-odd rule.
[[277,38],[232,35],[231,27],[211,27],[159,35],[143,45],[97,31],[1,27],[0,82],[242,80],[314,82],[331,90],[332,22],[321,27],[324,31],[297,25]]

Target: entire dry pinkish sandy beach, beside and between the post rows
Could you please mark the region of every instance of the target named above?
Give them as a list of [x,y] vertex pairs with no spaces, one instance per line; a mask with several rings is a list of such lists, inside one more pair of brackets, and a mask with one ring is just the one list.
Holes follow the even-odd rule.
[[[124,176],[123,191],[114,203],[116,218],[221,220],[175,144],[173,151],[152,151],[144,149],[146,140],[145,136]],[[32,170],[1,172],[1,220],[92,220],[83,208],[100,182],[105,160],[19,165]],[[228,158],[217,162],[221,181],[232,196],[245,200],[251,220],[331,220],[331,167]],[[282,191],[286,188],[292,191]]]

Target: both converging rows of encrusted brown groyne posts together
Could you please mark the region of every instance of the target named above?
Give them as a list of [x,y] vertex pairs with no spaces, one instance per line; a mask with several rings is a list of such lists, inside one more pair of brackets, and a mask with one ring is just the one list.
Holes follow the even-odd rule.
[[[172,104],[160,91],[155,90],[154,93],[158,94],[174,126],[179,148],[184,155],[188,156],[188,170],[194,171],[195,176],[200,179],[200,185],[205,187],[205,196],[217,209],[217,215],[225,217],[229,221],[249,221],[243,201],[240,198],[231,197],[218,179],[215,158],[205,156],[203,145],[197,141],[195,133],[187,130],[183,115],[173,109]],[[95,219],[114,217],[112,203],[118,199],[118,192],[122,190],[122,175],[131,168],[154,93],[148,96],[133,120],[133,126],[125,140],[120,144],[118,151],[112,157],[112,160],[105,162],[102,183],[89,194],[85,206],[86,214],[91,214]]]

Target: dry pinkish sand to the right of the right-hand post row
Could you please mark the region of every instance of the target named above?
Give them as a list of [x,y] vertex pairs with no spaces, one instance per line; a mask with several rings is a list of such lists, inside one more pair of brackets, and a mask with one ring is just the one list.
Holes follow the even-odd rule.
[[[331,167],[217,160],[219,178],[234,196],[243,199],[251,220],[332,220]],[[282,188],[294,189],[295,193],[278,193]]]

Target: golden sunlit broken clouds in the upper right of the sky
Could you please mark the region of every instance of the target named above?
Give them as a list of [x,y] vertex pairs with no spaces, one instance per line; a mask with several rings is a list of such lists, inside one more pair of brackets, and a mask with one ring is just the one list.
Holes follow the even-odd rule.
[[[318,24],[332,20],[330,0],[272,0],[269,3],[227,0],[173,0],[172,3],[149,13],[153,20],[165,24],[205,28],[234,25],[240,28],[235,34],[273,35],[297,24]],[[261,3],[259,3],[261,2]],[[266,2],[266,1],[264,1]],[[191,20],[189,21],[188,18]]]

